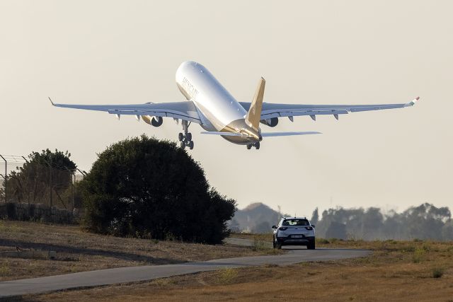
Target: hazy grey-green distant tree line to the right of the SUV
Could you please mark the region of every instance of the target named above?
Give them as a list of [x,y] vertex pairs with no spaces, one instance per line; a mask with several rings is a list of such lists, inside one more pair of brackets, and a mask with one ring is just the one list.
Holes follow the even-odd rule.
[[398,213],[377,207],[367,209],[316,208],[311,217],[316,236],[362,240],[453,240],[452,214],[448,207],[424,203]]

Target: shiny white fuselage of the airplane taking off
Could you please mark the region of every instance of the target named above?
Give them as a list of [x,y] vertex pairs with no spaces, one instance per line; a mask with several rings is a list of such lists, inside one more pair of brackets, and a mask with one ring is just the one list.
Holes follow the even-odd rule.
[[[185,98],[193,101],[207,131],[239,132],[248,128],[246,110],[222,86],[205,66],[197,62],[183,62],[176,71],[176,84]],[[250,144],[250,139],[224,137],[236,144]]]

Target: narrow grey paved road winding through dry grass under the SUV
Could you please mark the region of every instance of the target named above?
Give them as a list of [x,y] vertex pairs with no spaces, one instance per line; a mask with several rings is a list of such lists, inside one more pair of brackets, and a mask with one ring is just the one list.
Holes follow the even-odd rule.
[[[231,243],[241,244],[241,241]],[[248,241],[249,243],[250,241]],[[246,244],[246,241],[242,242],[242,244]],[[305,247],[287,247],[286,249],[289,251],[285,255],[239,257],[205,262],[188,262],[179,265],[119,267],[50,277],[4,281],[0,282],[0,297],[145,281],[228,267],[247,267],[266,264],[292,265],[306,261],[340,260],[352,257],[365,257],[370,253],[369,250],[349,249],[306,250]]]

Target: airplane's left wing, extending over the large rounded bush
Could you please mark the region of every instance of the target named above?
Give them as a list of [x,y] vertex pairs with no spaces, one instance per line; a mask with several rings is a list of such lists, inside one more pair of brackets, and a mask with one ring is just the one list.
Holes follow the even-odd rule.
[[[49,98],[50,100],[50,98]],[[50,100],[55,107],[73,108],[83,110],[105,111],[113,115],[149,115],[154,117],[173,117],[174,119],[187,120],[201,124],[200,115],[191,100],[174,103],[146,103],[134,105],[73,105],[56,104]]]

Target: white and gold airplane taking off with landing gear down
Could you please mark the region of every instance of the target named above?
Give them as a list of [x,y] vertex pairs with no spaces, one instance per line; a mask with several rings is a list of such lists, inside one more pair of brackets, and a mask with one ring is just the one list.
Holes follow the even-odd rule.
[[308,115],[316,120],[316,115],[339,115],[349,112],[384,110],[411,107],[418,97],[409,103],[381,105],[297,105],[263,103],[265,80],[258,81],[256,93],[251,103],[238,102],[217,79],[200,63],[183,62],[176,71],[176,85],[187,100],[173,103],[144,103],[135,105],[69,105],[57,104],[56,107],[105,111],[117,115],[134,115],[154,127],[163,123],[163,117],[173,117],[183,126],[178,139],[180,147],[193,149],[190,124],[197,123],[205,129],[201,134],[219,135],[234,144],[246,145],[247,149],[260,149],[260,141],[265,137],[284,137],[290,135],[320,134],[320,132],[261,132],[260,123],[275,127],[280,117],[288,117],[291,122],[295,116]]

